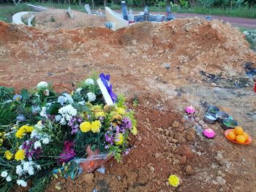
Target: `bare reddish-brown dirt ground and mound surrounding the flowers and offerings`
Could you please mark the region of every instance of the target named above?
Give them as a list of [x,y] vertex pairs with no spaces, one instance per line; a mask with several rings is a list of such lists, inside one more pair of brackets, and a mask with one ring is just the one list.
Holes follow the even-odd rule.
[[[210,126],[217,137],[206,139],[181,119],[188,104],[203,118],[198,103],[208,101],[256,137],[254,83],[244,75],[256,55],[229,24],[184,19],[113,32],[0,23],[0,60],[0,85],[17,90],[42,80],[57,91],[70,90],[96,71],[110,73],[114,91],[124,93],[130,105],[138,95],[140,105],[133,108],[139,134],[124,164],[109,161],[106,174],[53,180],[48,191],[57,191],[56,185],[63,191],[255,191],[255,139],[249,146],[235,145],[217,124]],[[180,187],[166,184],[170,174],[183,180]]]

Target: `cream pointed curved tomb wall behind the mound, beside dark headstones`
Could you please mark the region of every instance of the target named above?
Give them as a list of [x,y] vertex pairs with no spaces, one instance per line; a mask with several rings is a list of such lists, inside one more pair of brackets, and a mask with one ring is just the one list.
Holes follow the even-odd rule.
[[113,31],[116,31],[118,28],[123,28],[129,26],[128,20],[124,20],[122,15],[118,12],[114,12],[109,7],[105,7],[105,15],[108,22],[113,23]]

